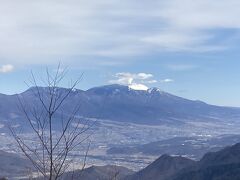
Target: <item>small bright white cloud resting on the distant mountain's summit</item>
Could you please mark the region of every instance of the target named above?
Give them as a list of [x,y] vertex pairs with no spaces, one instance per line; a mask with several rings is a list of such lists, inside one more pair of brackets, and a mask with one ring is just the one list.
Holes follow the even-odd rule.
[[128,72],[121,72],[116,73],[114,75],[113,80],[110,80],[109,83],[111,84],[122,84],[128,85],[130,88],[136,90],[146,90],[148,87],[145,84],[156,83],[157,80],[153,79],[152,74],[148,73],[128,73]]

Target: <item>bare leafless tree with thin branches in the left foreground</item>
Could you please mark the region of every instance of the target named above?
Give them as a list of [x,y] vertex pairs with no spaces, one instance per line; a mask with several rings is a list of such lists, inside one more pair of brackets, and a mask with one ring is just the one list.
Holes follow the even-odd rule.
[[[20,150],[44,179],[48,180],[62,177],[73,161],[70,157],[72,151],[83,145],[90,136],[86,131],[91,127],[91,123],[83,122],[82,118],[77,116],[80,105],[69,105],[68,102],[69,97],[77,93],[75,88],[81,78],[62,90],[59,85],[65,75],[66,69],[62,70],[60,65],[54,74],[47,69],[43,88],[38,85],[32,73],[30,83],[34,88],[30,90],[35,101],[27,102],[26,97],[18,97],[19,108],[32,131],[30,134],[33,137],[30,139],[34,140],[29,140],[29,137],[17,132],[16,128],[10,127]],[[67,106],[72,107],[70,113],[64,111]],[[83,166],[86,156],[87,153]]]

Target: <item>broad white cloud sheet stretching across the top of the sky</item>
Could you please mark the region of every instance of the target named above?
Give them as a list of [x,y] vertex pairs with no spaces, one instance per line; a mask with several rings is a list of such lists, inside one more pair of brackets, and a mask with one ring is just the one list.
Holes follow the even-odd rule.
[[[0,0],[0,63],[79,64],[97,57],[224,50],[239,0]],[[226,33],[225,33],[226,34]],[[229,34],[232,37],[232,34]],[[214,39],[218,39],[217,42]],[[228,41],[227,41],[228,40]],[[228,42],[228,43],[225,43]],[[101,61],[105,61],[102,59]]]

